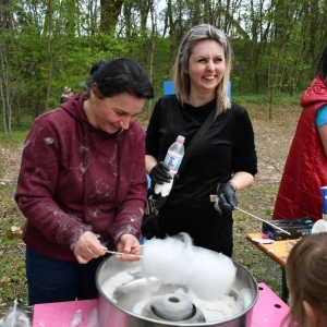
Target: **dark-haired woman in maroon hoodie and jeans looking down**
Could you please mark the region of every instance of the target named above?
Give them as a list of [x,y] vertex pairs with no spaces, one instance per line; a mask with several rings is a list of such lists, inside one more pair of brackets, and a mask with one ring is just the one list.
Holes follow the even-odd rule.
[[26,138],[15,201],[27,221],[29,305],[95,299],[107,250],[137,259],[146,204],[144,131],[154,97],[131,59],[100,61],[84,93],[38,117]]

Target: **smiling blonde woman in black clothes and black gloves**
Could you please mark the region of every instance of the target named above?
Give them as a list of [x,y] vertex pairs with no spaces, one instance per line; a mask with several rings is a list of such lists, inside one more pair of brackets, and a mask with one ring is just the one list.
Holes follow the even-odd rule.
[[[232,49],[223,32],[203,24],[186,33],[173,68],[175,95],[158,100],[146,132],[146,172],[154,183],[171,179],[161,162],[178,135],[191,140],[213,123],[189,157],[159,210],[161,238],[186,232],[194,244],[232,255],[235,192],[257,172],[254,133],[244,108],[228,98]],[[213,117],[214,117],[213,116]],[[214,207],[210,195],[219,196]]]

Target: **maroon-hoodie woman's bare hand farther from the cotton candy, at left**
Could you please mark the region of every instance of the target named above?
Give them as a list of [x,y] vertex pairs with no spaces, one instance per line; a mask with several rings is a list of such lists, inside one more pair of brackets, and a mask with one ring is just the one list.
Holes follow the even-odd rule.
[[106,254],[108,249],[104,246],[96,234],[90,231],[84,232],[74,247],[74,254],[80,264],[87,264],[90,259]]

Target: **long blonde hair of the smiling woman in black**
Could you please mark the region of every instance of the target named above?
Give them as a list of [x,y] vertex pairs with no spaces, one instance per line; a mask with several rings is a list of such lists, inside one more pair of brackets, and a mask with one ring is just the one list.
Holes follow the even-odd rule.
[[231,102],[228,97],[228,85],[231,71],[232,49],[223,32],[219,31],[215,26],[208,24],[194,26],[183,37],[172,70],[174,89],[177,97],[183,104],[191,93],[190,76],[185,73],[185,70],[189,69],[189,60],[192,55],[192,50],[198,43],[205,39],[213,39],[219,43],[222,46],[225,53],[225,75],[216,89],[216,116],[218,116],[226,109],[231,108]]

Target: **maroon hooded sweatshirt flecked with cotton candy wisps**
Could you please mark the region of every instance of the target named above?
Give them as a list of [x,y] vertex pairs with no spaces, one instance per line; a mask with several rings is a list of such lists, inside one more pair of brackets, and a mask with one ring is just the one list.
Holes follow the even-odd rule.
[[35,120],[15,194],[26,245],[69,262],[87,230],[110,250],[123,233],[138,239],[147,195],[143,129],[134,122],[114,134],[96,130],[84,100],[76,95]]

